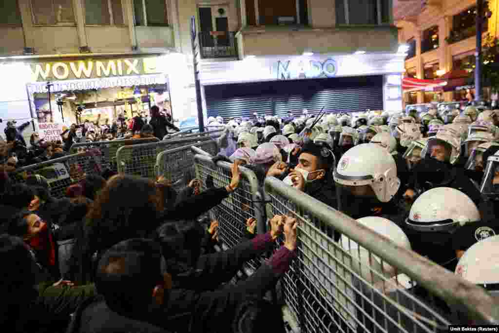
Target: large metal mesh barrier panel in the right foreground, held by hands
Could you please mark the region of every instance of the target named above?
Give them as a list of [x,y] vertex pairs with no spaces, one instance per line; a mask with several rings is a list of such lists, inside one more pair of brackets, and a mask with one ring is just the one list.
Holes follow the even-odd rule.
[[[301,332],[448,332],[448,325],[499,324],[485,291],[350,217],[265,179],[267,214],[299,223],[297,258],[282,279]],[[266,199],[266,200],[267,200]],[[340,231],[340,242],[328,235]]]

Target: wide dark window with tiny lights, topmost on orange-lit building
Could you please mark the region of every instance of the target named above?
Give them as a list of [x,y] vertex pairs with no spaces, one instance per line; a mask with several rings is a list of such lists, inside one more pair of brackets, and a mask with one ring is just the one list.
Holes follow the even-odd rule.
[[[484,2],[484,12],[489,8],[489,2]],[[484,16],[484,31],[489,27],[489,19]],[[473,37],[477,34],[477,6],[472,6],[452,16],[452,31],[447,37],[449,44]]]

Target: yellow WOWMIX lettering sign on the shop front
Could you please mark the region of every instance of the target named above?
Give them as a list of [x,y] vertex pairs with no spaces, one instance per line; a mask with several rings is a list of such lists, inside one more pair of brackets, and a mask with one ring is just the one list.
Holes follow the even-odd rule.
[[159,58],[74,60],[30,65],[32,81],[89,79],[160,73]]

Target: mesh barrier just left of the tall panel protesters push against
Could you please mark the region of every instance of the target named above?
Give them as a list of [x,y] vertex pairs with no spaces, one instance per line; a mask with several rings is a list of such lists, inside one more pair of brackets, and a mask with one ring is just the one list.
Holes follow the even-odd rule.
[[[189,145],[159,153],[154,167],[155,176],[164,176],[171,181],[173,188],[176,190],[182,190],[187,186],[182,180],[184,174],[190,169],[193,170],[192,174],[194,175],[194,155],[196,152],[193,149],[196,148],[198,151],[209,155],[212,154],[212,156],[218,152],[217,143],[213,140],[200,141],[194,144],[196,146]],[[203,149],[206,149],[206,151]]]

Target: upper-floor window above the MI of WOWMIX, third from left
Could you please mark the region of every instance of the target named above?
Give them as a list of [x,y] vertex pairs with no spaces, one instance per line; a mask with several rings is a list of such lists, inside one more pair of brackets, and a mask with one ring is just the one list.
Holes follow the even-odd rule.
[[124,25],[121,0],[85,0],[87,25]]

